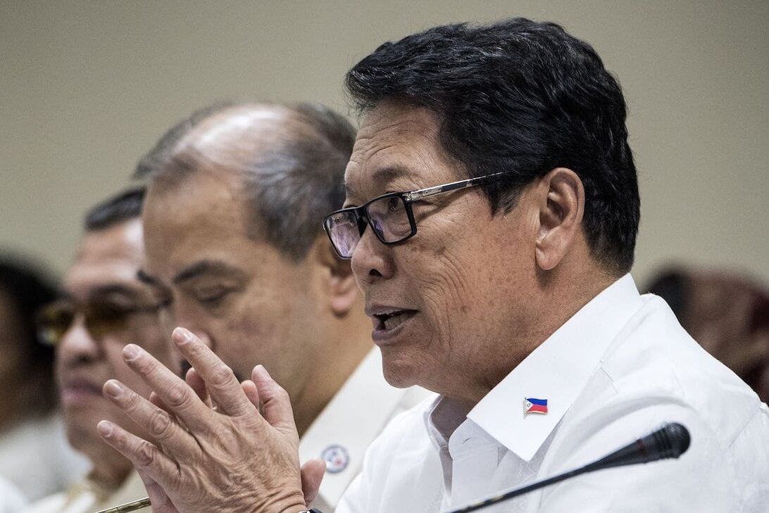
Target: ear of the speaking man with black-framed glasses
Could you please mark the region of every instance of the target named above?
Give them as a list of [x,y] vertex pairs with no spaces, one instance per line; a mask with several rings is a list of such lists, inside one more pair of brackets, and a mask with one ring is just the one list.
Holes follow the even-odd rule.
[[541,194],[536,259],[540,269],[548,271],[561,263],[581,232],[584,186],[574,171],[556,167],[540,179],[536,190]]

